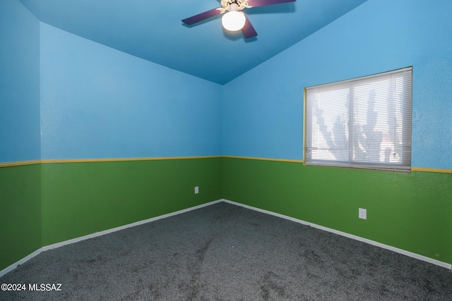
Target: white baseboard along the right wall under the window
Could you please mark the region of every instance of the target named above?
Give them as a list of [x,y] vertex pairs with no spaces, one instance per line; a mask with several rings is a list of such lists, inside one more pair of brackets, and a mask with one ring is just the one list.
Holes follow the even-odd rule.
[[452,269],[452,264],[448,264],[447,262],[440,262],[439,260],[432,259],[430,257],[426,257],[426,256],[423,256],[423,255],[420,255],[420,254],[416,254],[416,253],[413,253],[413,252],[409,252],[409,251],[406,251],[406,250],[399,249],[398,247],[392,247],[391,245],[385,245],[385,244],[383,244],[381,242],[376,242],[374,240],[369,240],[367,238],[362,238],[362,237],[359,237],[357,235],[352,235],[352,234],[345,233],[345,232],[342,232],[342,231],[338,231],[338,230],[335,230],[335,229],[332,229],[332,228],[327,228],[327,227],[324,227],[324,226],[320,226],[320,225],[317,225],[316,223],[309,223],[308,221],[302,221],[300,219],[295,219],[293,217],[285,216],[283,214],[278,214],[278,213],[275,213],[273,211],[268,211],[268,210],[264,210],[264,209],[260,209],[260,208],[256,208],[256,207],[251,207],[251,206],[248,206],[248,205],[245,205],[245,204],[232,202],[232,201],[230,201],[228,199],[222,199],[222,201],[230,203],[230,204],[234,204],[234,205],[237,205],[237,206],[241,206],[241,207],[244,207],[246,209],[251,209],[251,210],[259,211],[259,212],[262,212],[262,213],[265,213],[265,214],[278,216],[278,217],[283,218],[283,219],[288,219],[289,221],[295,221],[296,223],[302,223],[303,225],[311,226],[311,227],[318,228],[318,229],[323,230],[323,231],[328,231],[328,232],[331,232],[331,233],[342,235],[342,236],[345,236],[346,238],[352,238],[354,240],[359,240],[361,242],[366,242],[369,245],[374,245],[376,247],[382,247],[383,249],[391,250],[393,252],[397,252],[397,253],[400,253],[400,254],[406,255],[408,257],[415,258],[415,259],[420,259],[420,260],[422,260],[424,262],[429,262],[431,264],[436,264],[437,266],[442,266],[442,267],[444,267],[446,269]]

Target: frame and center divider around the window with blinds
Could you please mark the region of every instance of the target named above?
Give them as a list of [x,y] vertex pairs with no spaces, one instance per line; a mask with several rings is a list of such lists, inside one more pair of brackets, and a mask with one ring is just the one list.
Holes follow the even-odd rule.
[[[347,140],[349,140],[349,147],[347,148],[347,151],[349,152],[348,154],[348,160],[347,161],[341,161],[338,159],[312,159],[311,155],[308,154],[309,153],[309,147],[311,147],[311,149],[313,149],[312,145],[308,145],[307,144],[307,139],[308,139],[308,133],[307,131],[309,130],[308,127],[308,112],[307,112],[307,107],[308,107],[308,92],[309,90],[314,90],[314,89],[318,89],[318,88],[334,88],[334,87],[340,87],[343,86],[344,84],[347,85],[348,83],[350,83],[350,85],[353,85],[354,82],[364,82],[367,80],[371,80],[372,78],[376,78],[378,80],[378,78],[383,78],[386,77],[387,75],[393,75],[393,74],[397,74],[397,73],[405,73],[409,71],[409,75],[408,78],[410,79],[410,83],[409,86],[407,87],[403,87],[404,89],[404,93],[405,93],[405,89],[408,89],[406,92],[409,95],[409,102],[406,102],[405,100],[401,100],[400,103],[403,104],[404,106],[406,106],[406,108],[404,109],[404,114],[403,114],[403,120],[401,121],[401,123],[396,123],[398,124],[403,124],[403,129],[401,130],[402,132],[402,143],[400,145],[401,149],[402,149],[402,155],[401,155],[401,162],[400,163],[394,163],[394,162],[382,162],[381,161],[381,155],[379,156],[379,160],[380,162],[375,162],[375,161],[359,161],[359,160],[355,160],[353,158],[353,152],[355,152],[354,146],[350,145],[350,135],[352,135],[351,133],[353,132],[353,130],[351,130],[350,128],[350,124],[347,125]],[[391,82],[392,84],[392,82]],[[355,87],[350,87],[349,89],[355,89]],[[338,90],[338,89],[336,89]],[[353,92],[350,92],[350,94],[352,94]],[[405,95],[405,94],[404,94]],[[352,97],[350,97],[352,99]],[[352,105],[353,100],[350,102],[350,104],[346,107],[347,109],[347,114],[350,115],[350,111],[352,111],[354,109],[353,105]],[[314,109],[315,110],[315,109]],[[311,114],[311,122],[312,119],[314,119],[314,113]],[[349,116],[350,117],[350,116]],[[405,119],[406,118],[406,119]],[[369,119],[366,119],[366,121],[368,121]],[[347,121],[348,122],[348,121]],[[353,123],[353,121],[352,121]],[[355,123],[353,123],[355,124]],[[389,123],[386,123],[389,124]],[[317,126],[319,126],[319,123],[316,123]],[[330,124],[331,125],[331,124]],[[312,128],[312,127],[311,127]],[[314,132],[314,131],[312,131]],[[323,134],[322,134],[323,135]],[[405,135],[407,137],[405,137]],[[323,140],[325,140],[325,138],[323,137]],[[330,147],[328,147],[329,149]],[[380,152],[382,149],[382,146],[379,146]],[[367,76],[362,76],[359,78],[352,78],[349,80],[341,80],[338,82],[329,82],[323,85],[314,85],[314,86],[310,86],[310,87],[305,87],[304,88],[304,148],[303,148],[303,154],[304,154],[304,165],[309,165],[309,166],[333,166],[333,167],[345,167],[345,168],[358,168],[358,169],[371,169],[371,170],[383,170],[383,171],[400,171],[400,172],[410,172],[411,171],[411,153],[412,153],[412,66],[410,67],[406,67],[406,68],[400,68],[400,69],[396,69],[396,70],[391,70],[391,71],[387,71],[387,72],[383,72],[383,73],[376,73],[376,74],[372,74],[372,75],[367,75]]]

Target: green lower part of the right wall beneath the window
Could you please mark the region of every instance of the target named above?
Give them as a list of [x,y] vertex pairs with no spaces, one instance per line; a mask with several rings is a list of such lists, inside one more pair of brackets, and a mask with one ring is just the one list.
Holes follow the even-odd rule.
[[225,199],[452,263],[450,173],[223,160]]

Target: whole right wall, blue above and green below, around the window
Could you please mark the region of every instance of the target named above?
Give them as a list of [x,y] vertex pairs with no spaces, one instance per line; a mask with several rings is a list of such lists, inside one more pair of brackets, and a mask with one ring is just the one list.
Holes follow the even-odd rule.
[[[451,170],[451,10],[369,0],[228,83],[223,154],[302,160],[304,87],[412,66],[412,166]],[[451,180],[225,159],[223,197],[452,263]]]

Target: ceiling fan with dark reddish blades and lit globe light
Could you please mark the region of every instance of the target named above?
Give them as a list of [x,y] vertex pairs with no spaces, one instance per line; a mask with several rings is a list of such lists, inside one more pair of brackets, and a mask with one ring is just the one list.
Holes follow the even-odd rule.
[[182,20],[182,22],[186,25],[194,25],[227,11],[227,13],[222,16],[221,22],[223,27],[230,31],[242,30],[245,39],[249,39],[250,37],[256,37],[257,32],[254,30],[253,25],[249,22],[249,19],[242,12],[242,9],[295,1],[297,0],[221,0],[222,7],[213,8],[210,11],[199,13],[196,16]]

